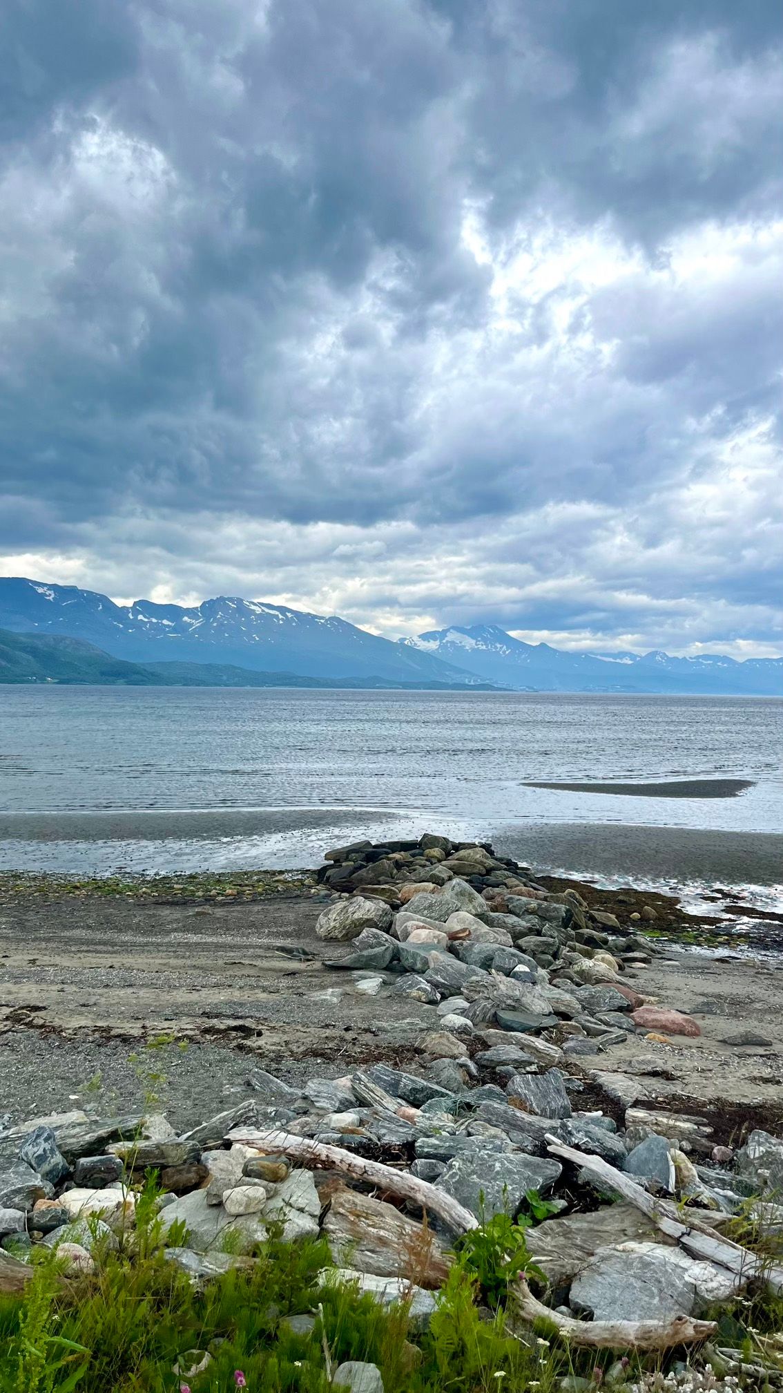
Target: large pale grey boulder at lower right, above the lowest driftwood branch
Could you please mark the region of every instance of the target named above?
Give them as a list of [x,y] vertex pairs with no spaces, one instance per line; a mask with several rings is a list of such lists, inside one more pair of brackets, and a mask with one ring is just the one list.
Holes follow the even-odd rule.
[[605,1247],[571,1283],[570,1302],[595,1321],[667,1321],[733,1294],[733,1276],[679,1248],[631,1240]]

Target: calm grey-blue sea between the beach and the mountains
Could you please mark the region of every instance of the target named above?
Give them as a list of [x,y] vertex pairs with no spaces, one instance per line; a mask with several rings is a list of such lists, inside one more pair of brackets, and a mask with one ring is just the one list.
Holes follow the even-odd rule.
[[[298,866],[429,827],[541,869],[773,887],[782,736],[779,701],[0,687],[0,868]],[[723,777],[752,787],[527,787]]]

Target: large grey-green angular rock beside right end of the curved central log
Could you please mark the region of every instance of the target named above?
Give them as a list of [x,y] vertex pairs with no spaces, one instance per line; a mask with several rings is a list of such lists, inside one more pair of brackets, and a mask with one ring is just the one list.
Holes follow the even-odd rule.
[[528,1190],[546,1194],[561,1169],[556,1160],[521,1152],[465,1151],[449,1162],[437,1188],[476,1219],[489,1219],[496,1213],[515,1215]]

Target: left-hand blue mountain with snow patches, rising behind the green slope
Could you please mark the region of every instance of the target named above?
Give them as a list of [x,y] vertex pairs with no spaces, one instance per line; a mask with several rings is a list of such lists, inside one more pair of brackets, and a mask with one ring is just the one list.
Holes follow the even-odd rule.
[[0,579],[0,628],[67,634],[132,663],[230,663],[300,677],[382,677],[461,687],[478,681],[464,667],[401,648],[344,618],[226,595],[192,609],[152,600],[125,606],[75,585]]

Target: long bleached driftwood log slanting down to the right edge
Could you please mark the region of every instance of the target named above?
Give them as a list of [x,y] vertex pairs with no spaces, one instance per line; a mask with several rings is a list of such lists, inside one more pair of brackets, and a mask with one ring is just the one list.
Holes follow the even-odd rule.
[[607,1160],[602,1160],[600,1156],[591,1156],[575,1151],[573,1146],[563,1146],[552,1134],[548,1135],[546,1141],[546,1149],[552,1156],[559,1156],[563,1160],[573,1162],[574,1166],[581,1166],[588,1174],[595,1176],[602,1184],[614,1190],[623,1199],[627,1199],[628,1204],[635,1205],[637,1209],[648,1215],[656,1227],[669,1238],[674,1238],[680,1248],[691,1258],[712,1262],[715,1266],[730,1272],[734,1277],[736,1290],[745,1286],[751,1277],[759,1277],[768,1283],[776,1295],[783,1293],[782,1266],[770,1266],[766,1259],[757,1258],[755,1254],[748,1252],[738,1243],[731,1243],[730,1238],[716,1234],[715,1229],[702,1223],[695,1215],[692,1217],[688,1215],[688,1223],[683,1223],[677,1206],[672,1201],[656,1199],[646,1190],[642,1190],[635,1180],[626,1176],[621,1170],[616,1170],[614,1166],[610,1166]]

